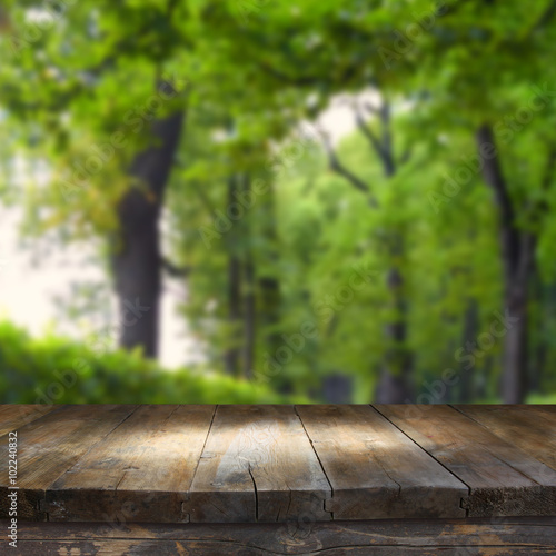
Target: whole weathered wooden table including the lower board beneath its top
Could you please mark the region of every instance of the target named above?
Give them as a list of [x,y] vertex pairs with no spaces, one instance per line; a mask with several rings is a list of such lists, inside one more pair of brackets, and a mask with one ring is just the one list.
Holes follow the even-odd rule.
[[6,554],[556,554],[556,406],[0,406],[4,532],[13,431]]

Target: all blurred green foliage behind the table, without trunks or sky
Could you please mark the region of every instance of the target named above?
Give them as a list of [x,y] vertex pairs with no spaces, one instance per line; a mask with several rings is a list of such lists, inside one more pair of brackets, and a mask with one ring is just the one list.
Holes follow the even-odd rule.
[[[27,207],[26,231],[42,236],[53,229],[62,241],[95,236],[108,244],[119,200],[140,187],[126,169],[149,141],[146,123],[186,109],[166,195],[163,250],[190,270],[180,309],[208,346],[211,368],[221,370],[222,355],[245,346],[245,307],[235,319],[229,308],[229,267],[237,259],[244,278],[247,262],[254,268],[255,284],[242,278],[239,289],[242,298],[256,297],[258,371],[304,324],[317,332],[278,373],[265,376],[269,390],[321,400],[324,378],[341,374],[354,380],[354,399],[368,400],[389,347],[385,327],[398,316],[386,286],[393,267],[405,278],[403,348],[414,355],[417,393],[443,369],[460,374],[455,354],[464,344],[469,302],[478,306],[475,336],[488,330],[503,302],[499,214],[480,170],[473,169],[475,133],[486,122],[518,207],[518,227],[538,236],[530,366],[548,369],[532,373],[535,388],[556,386],[549,373],[556,363],[556,188],[547,172],[556,145],[550,1],[67,0],[66,12],[32,40],[37,24],[28,11],[37,2],[7,4],[9,17],[0,13],[8,60],[0,68],[0,196]],[[153,110],[149,103],[161,77],[180,93]],[[543,98],[539,88],[548,91]],[[369,89],[393,106],[397,171],[385,177],[376,149],[357,131],[340,141],[337,153],[369,186],[378,208],[330,171],[316,142],[300,143],[294,131],[335,95]],[[520,117],[527,121],[516,122]],[[377,120],[374,113],[367,123],[380,137]],[[112,148],[100,171],[79,179],[93,146],[106,146],[115,133],[123,135],[126,147]],[[48,183],[31,177],[19,188],[16,157],[37,168],[48,161]],[[224,224],[231,178],[266,187],[240,218]],[[532,210],[539,203],[547,217]],[[388,248],[391,237],[404,242],[399,257]],[[338,301],[361,268],[374,279],[347,291],[349,301]],[[278,285],[270,295],[269,282]],[[4,342],[2,357],[16,349],[6,359],[8,374],[12,380],[27,377],[31,390],[33,374],[44,376],[39,384],[47,387],[48,369],[68,365],[80,350],[53,338],[44,346],[23,340],[8,325],[2,334],[20,346],[18,351]],[[496,342],[470,371],[473,395],[480,399],[496,399],[500,349]],[[42,367],[33,354],[52,365]],[[16,365],[29,358],[34,367]],[[118,394],[110,398],[112,389]],[[122,353],[91,364],[67,395],[122,401],[123,389],[133,401],[274,399],[262,387],[168,374]]]

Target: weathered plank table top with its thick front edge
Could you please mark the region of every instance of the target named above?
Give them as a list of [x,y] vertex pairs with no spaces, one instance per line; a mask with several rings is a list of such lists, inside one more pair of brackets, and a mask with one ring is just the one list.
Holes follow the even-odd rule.
[[556,516],[556,406],[0,406],[0,518]]

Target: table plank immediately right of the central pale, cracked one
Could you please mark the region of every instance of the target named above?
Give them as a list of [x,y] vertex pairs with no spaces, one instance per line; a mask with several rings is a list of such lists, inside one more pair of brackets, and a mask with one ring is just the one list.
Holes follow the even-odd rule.
[[468,488],[369,406],[298,406],[335,519],[465,517]]

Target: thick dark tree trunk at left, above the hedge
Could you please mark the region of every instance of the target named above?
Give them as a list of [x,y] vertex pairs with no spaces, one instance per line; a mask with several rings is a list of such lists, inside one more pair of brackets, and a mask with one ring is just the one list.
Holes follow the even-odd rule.
[[119,241],[113,246],[112,271],[121,316],[119,344],[158,355],[160,304],[159,216],[178,148],[183,112],[151,126],[152,143],[136,156],[129,176],[133,187],[118,207]]

